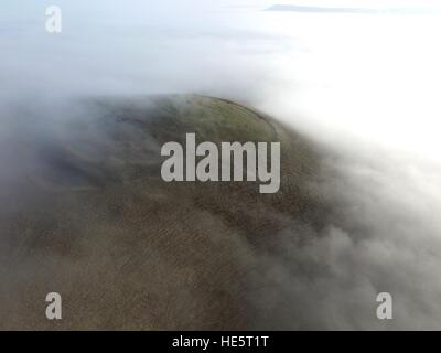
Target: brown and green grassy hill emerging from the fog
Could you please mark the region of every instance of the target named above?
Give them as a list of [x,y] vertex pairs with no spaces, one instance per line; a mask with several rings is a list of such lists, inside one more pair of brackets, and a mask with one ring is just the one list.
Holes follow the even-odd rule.
[[[17,149],[13,200],[0,213],[1,329],[252,329],[270,307],[252,292],[261,254],[289,229],[320,229],[319,152],[269,117],[203,96],[103,98]],[[34,130],[32,130],[34,131]],[[281,188],[165,183],[160,148],[197,141],[280,141]],[[21,156],[20,154],[20,156]],[[297,232],[297,233],[295,233]],[[44,317],[63,296],[63,321]],[[277,293],[275,293],[277,297]],[[277,301],[277,300],[276,300]]]

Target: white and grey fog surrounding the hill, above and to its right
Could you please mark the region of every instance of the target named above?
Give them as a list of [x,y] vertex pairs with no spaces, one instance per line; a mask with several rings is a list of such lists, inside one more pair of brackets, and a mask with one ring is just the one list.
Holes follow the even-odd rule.
[[[44,29],[53,3],[57,35]],[[440,14],[262,11],[271,4],[2,4],[0,136],[23,100],[201,93],[259,108],[327,149],[323,193],[342,202],[347,227],[303,245],[287,229],[250,300],[288,329],[440,329]],[[375,315],[383,291],[390,321]]]

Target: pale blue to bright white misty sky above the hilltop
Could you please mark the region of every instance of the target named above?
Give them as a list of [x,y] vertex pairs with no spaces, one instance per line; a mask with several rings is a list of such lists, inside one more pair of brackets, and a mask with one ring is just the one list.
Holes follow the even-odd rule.
[[[6,68],[0,78],[21,79],[26,87],[58,79],[78,89],[93,83],[129,89],[126,85],[154,82],[150,89],[197,90],[212,84],[240,86],[225,92],[246,93],[245,86],[260,90],[257,104],[276,115],[306,116],[294,121],[301,127],[315,121],[330,137],[347,132],[438,158],[439,17],[258,10],[275,3],[372,8],[440,2],[14,0],[1,4],[2,15],[10,17],[0,21],[0,64]],[[64,33],[56,39],[43,30],[44,4],[52,3],[64,13]],[[24,79],[23,73],[34,79]],[[256,77],[258,85],[248,84]]]

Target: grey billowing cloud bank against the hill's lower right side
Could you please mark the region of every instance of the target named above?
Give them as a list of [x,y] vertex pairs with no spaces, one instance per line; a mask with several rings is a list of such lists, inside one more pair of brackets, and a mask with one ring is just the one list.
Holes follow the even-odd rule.
[[[352,158],[329,163],[322,190],[341,205],[342,221],[320,233],[303,231],[306,240],[287,228],[277,235],[278,250],[262,257],[252,298],[268,308],[261,328],[440,327],[441,224],[434,218],[440,194],[424,190],[413,174],[433,171],[406,172],[388,158],[370,165]],[[394,299],[390,321],[376,318],[375,299],[384,291]]]

